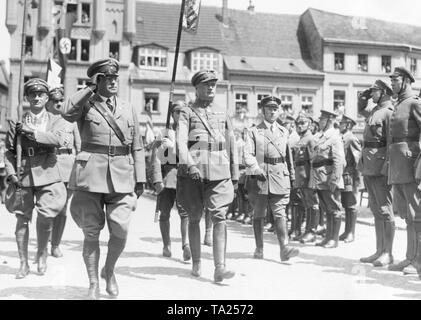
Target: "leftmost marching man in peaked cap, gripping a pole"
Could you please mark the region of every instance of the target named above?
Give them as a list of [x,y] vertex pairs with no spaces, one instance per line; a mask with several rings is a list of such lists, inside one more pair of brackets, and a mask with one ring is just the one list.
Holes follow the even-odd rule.
[[[45,109],[48,101],[47,82],[39,78],[31,79],[25,83],[24,93],[30,109],[24,114],[22,123],[10,121],[5,159],[7,181],[11,184],[5,204],[17,218],[15,235],[20,258],[17,279],[29,273],[28,224],[32,211],[35,209],[37,212],[37,269],[43,275],[47,270],[47,245],[53,220],[65,207],[67,194],[55,152],[56,147],[64,144],[60,130],[65,121]],[[18,134],[22,136],[21,180],[16,174],[15,143]]]

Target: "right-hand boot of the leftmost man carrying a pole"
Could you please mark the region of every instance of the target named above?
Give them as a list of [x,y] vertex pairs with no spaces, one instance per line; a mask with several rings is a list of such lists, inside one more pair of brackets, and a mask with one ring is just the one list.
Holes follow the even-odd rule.
[[38,243],[36,257],[38,261],[37,269],[39,275],[44,275],[47,271],[47,245],[53,228],[53,218],[45,218],[44,216],[38,214],[36,224]]

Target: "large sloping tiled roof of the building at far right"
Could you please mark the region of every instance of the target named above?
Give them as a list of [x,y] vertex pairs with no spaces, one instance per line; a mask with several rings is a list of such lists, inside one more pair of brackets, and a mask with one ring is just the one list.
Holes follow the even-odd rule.
[[355,18],[313,8],[307,9],[306,13],[311,15],[324,40],[421,47],[421,27],[418,26]]

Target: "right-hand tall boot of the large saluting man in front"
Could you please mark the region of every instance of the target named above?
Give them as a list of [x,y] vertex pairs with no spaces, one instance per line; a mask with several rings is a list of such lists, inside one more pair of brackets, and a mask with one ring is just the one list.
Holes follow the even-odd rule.
[[105,260],[105,266],[101,270],[101,278],[105,279],[105,291],[111,297],[118,296],[118,284],[114,275],[114,267],[125,246],[126,239],[118,238],[113,234],[110,235],[107,258]]

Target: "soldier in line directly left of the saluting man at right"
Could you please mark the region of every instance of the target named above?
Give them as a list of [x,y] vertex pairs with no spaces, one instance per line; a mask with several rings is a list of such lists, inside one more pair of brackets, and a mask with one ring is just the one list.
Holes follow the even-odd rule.
[[339,236],[339,240],[349,243],[354,241],[355,223],[357,222],[357,193],[360,184],[360,174],[357,164],[361,157],[361,144],[352,128],[357,121],[346,112],[340,120],[339,130],[345,151],[345,169],[343,173],[344,190],[341,193],[342,207],[345,210],[345,231]]

